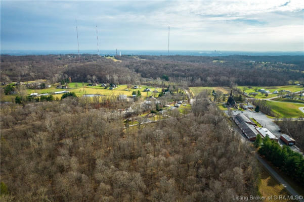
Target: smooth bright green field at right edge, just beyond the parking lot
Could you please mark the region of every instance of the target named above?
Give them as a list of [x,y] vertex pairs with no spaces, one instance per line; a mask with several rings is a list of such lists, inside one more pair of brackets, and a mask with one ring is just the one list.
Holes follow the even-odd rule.
[[304,117],[304,114],[298,109],[304,107],[303,104],[270,102],[267,104],[271,106],[277,118],[299,118]]

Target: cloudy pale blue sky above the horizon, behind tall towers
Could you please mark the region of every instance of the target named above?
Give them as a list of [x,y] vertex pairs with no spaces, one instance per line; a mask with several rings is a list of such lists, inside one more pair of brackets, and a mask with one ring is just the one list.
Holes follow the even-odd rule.
[[1,49],[304,51],[304,1],[1,1]]

